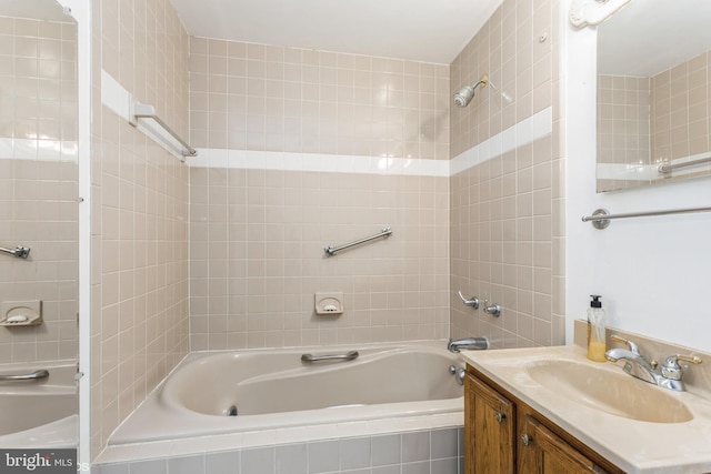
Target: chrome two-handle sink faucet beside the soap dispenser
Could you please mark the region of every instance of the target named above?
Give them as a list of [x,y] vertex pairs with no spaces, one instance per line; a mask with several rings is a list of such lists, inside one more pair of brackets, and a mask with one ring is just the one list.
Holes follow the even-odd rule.
[[664,360],[661,370],[657,370],[657,362],[648,362],[639,352],[637,344],[632,341],[628,341],[618,335],[612,335],[611,339],[617,342],[627,344],[629,349],[611,349],[604,353],[604,356],[610,362],[617,362],[619,360],[625,361],[622,369],[633,377],[643,380],[647,383],[658,385],[664,389],[683,392],[687,390],[684,383],[681,380],[682,369],[678,361],[691,362],[692,364],[700,364],[701,359],[698,356],[687,356],[674,354]]

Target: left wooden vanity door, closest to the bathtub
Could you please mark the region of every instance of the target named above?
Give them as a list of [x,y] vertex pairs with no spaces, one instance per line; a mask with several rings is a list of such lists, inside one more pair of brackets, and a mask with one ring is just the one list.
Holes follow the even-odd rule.
[[464,381],[467,474],[513,474],[514,423],[513,403],[468,374]]

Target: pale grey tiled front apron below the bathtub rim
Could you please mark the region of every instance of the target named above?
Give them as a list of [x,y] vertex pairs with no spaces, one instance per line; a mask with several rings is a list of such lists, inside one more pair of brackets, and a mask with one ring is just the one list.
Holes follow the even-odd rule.
[[98,474],[458,474],[461,427],[211,452],[94,466]]

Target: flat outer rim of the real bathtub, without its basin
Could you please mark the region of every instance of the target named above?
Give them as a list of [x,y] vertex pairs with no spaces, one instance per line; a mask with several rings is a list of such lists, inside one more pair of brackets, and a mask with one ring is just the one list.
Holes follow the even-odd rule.
[[[423,341],[401,341],[362,343],[348,345],[328,346],[303,346],[303,347],[270,347],[256,350],[228,350],[228,351],[199,351],[187,354],[183,360],[170,372],[172,374],[186,360],[199,359],[218,353],[232,352],[273,352],[273,351],[340,351],[346,347],[358,349],[381,349],[393,346],[430,346],[437,349],[447,347],[447,340],[423,340]],[[463,363],[463,362],[462,362]],[[170,374],[168,376],[170,376]],[[149,403],[151,396],[158,393],[163,386],[168,376],[147,396],[137,411]],[[94,463],[110,464],[118,462],[141,461],[162,458],[168,456],[187,456],[223,451],[244,450],[252,447],[263,447],[272,445],[284,445],[293,443],[313,442],[320,440],[341,440],[359,436],[374,436],[381,434],[415,432],[423,430],[439,430],[450,427],[461,427],[464,424],[463,395],[457,399],[448,399],[452,404],[457,404],[455,411],[445,413],[425,413],[415,415],[402,415],[394,417],[381,417],[364,421],[347,421],[333,424],[317,424],[309,426],[287,426],[271,427],[262,430],[246,431],[240,433],[208,434],[197,436],[186,436],[174,440],[140,441],[134,443],[112,444],[111,441],[117,432],[123,426],[126,420],[109,437],[109,443],[97,456]],[[128,417],[127,417],[128,420]]]

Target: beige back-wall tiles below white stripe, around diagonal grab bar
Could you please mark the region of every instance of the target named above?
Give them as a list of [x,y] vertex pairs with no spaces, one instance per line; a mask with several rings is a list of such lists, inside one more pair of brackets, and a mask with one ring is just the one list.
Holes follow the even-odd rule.
[[[206,170],[191,173],[193,184],[204,182]],[[445,178],[219,169],[207,173],[226,186],[220,192],[211,188],[207,205],[200,190],[191,194],[198,201],[191,206],[191,239],[204,235],[200,229],[216,220],[227,219],[220,231],[227,233],[208,233],[209,251],[191,265],[198,310],[191,313],[193,350],[448,334],[448,319],[435,317],[447,314],[448,222],[423,219],[437,209],[435,202],[447,211]],[[422,190],[422,199],[405,200],[400,190]],[[227,213],[220,211],[223,202],[230,203]],[[404,212],[408,209],[415,212]],[[398,222],[392,224],[393,238],[323,256],[327,244],[364,236],[389,222]],[[343,315],[316,316],[313,294],[323,291],[343,292]],[[207,304],[201,296],[206,294]],[[404,309],[428,316],[404,317]]]

